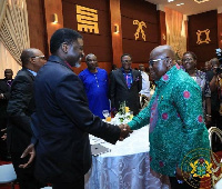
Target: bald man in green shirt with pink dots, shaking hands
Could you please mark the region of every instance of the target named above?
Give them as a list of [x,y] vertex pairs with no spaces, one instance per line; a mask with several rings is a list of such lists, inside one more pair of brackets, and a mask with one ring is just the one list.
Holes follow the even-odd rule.
[[[182,177],[181,169],[190,173],[190,162],[194,165],[199,158],[209,161],[210,143],[200,87],[174,66],[174,57],[170,46],[159,46],[151,51],[149,63],[151,77],[157,83],[155,92],[150,105],[125,126],[134,130],[150,123],[152,171],[169,176],[172,189],[189,189],[192,183],[190,178]],[[205,153],[199,156],[200,149],[205,149]],[[184,162],[186,156],[190,159]],[[198,186],[199,181],[195,182]]]

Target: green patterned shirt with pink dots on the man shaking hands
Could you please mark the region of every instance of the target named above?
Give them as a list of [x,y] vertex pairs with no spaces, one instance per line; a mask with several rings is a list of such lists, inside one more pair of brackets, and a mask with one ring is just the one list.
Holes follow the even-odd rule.
[[174,66],[157,81],[150,105],[129,122],[131,129],[148,125],[158,96],[158,121],[149,136],[154,171],[174,177],[176,166],[181,167],[191,150],[210,149],[200,93],[196,82]]

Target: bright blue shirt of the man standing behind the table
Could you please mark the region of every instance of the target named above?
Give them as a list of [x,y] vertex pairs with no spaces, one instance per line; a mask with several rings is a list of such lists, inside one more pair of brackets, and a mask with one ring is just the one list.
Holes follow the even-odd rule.
[[104,118],[102,110],[110,111],[108,99],[108,73],[104,69],[97,68],[98,72],[92,73],[88,69],[80,72],[87,92],[89,108],[93,115]]

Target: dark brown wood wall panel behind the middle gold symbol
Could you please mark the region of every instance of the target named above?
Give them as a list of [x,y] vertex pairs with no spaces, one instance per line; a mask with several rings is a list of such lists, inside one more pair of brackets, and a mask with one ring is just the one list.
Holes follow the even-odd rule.
[[[143,0],[121,0],[121,20],[122,20],[122,46],[123,53],[130,53],[134,63],[148,63],[150,52],[159,46],[159,20],[157,6]],[[138,24],[133,20],[143,21],[145,40],[139,32],[135,40]]]

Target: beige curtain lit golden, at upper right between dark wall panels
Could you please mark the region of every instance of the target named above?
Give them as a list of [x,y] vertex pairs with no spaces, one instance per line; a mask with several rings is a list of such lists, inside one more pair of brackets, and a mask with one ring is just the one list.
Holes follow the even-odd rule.
[[186,36],[183,14],[165,8],[167,43],[181,58],[186,51]]

